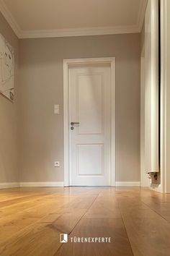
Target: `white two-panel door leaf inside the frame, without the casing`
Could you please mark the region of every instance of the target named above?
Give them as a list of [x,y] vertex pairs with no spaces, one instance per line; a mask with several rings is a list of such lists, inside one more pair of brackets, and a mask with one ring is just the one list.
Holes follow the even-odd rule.
[[104,64],[69,68],[71,186],[110,185],[110,74]]

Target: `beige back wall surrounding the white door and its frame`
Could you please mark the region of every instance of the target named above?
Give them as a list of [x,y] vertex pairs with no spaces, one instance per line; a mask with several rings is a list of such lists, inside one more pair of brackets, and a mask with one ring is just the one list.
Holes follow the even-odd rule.
[[116,180],[140,181],[140,34],[24,39],[19,46],[21,182],[63,181],[63,59],[107,56],[116,57]]

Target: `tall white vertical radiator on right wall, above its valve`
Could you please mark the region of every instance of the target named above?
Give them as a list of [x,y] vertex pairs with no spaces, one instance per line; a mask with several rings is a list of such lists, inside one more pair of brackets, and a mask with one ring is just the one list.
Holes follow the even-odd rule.
[[159,171],[158,0],[148,0],[145,15],[145,168]]

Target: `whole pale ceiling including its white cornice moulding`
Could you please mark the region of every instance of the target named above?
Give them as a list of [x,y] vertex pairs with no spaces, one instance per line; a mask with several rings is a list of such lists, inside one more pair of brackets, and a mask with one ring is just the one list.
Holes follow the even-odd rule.
[[19,38],[138,33],[147,0],[0,0]]

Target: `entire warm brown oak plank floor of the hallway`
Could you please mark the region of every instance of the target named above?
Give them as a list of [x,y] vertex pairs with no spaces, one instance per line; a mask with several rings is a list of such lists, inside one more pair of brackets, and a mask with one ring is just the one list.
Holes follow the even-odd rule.
[[[111,243],[65,243],[110,236]],[[168,256],[170,195],[114,187],[0,190],[0,255]]]

